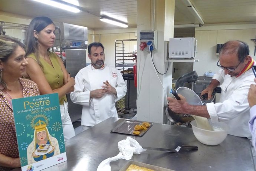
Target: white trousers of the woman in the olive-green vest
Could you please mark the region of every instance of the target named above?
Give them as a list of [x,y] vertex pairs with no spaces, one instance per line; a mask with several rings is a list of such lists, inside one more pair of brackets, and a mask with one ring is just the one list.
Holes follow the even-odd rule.
[[64,141],[66,141],[67,139],[75,136],[75,130],[68,113],[68,102],[64,101],[64,104],[60,105],[60,114],[62,120]]

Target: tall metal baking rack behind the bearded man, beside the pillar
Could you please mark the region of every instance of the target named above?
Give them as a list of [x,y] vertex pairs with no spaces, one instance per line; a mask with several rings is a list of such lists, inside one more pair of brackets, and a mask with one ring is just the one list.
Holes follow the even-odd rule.
[[[137,39],[115,40],[115,67],[122,73],[124,80],[127,80],[128,82],[127,95],[118,102],[116,102],[116,109],[118,115],[121,117],[134,116],[137,113],[136,111],[130,110],[129,108],[129,99],[131,93],[129,88],[129,81],[134,80],[133,65],[135,62],[133,62],[133,59],[137,54],[137,52],[125,52],[124,42],[129,41],[137,41]],[[128,103],[126,102],[127,100]]]

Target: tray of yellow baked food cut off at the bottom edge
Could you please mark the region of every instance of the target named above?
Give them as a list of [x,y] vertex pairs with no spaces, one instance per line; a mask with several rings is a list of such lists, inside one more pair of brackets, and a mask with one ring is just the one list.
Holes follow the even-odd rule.
[[129,161],[119,171],[174,171],[138,161]]

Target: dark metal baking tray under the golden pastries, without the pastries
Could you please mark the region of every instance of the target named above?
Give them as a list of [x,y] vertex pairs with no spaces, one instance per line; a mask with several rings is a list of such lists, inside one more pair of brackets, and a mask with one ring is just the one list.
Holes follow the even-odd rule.
[[[115,128],[113,128],[111,130],[111,132],[117,132],[117,133],[121,133],[121,134],[128,134],[128,135],[136,135],[136,134],[133,134],[133,131],[134,131],[134,127],[135,125],[140,125],[142,124],[142,122],[145,122],[145,121],[136,121],[136,120],[125,120],[123,122],[121,122],[119,125],[117,125]],[[150,127],[148,127],[148,129],[150,129],[153,125],[152,122],[149,122],[150,123]],[[138,134],[137,136],[142,136],[145,134],[145,132],[148,131],[147,130],[140,130],[140,134]]]

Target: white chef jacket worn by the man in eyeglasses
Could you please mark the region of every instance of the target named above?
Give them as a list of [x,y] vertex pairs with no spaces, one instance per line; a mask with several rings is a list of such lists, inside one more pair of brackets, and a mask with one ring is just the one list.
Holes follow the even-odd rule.
[[250,85],[254,83],[254,78],[251,69],[237,78],[225,75],[223,69],[213,76],[213,79],[220,82],[220,102],[207,103],[207,111],[212,122],[225,122],[229,125],[228,134],[230,135],[252,137],[248,127],[250,107],[247,95]]

